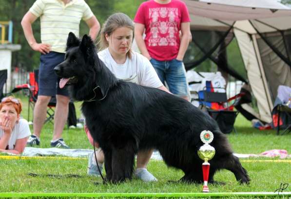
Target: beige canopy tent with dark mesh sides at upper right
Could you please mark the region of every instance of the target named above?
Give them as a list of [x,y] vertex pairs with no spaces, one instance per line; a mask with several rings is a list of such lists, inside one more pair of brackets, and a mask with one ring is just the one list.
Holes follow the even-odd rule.
[[[248,104],[242,106],[258,119],[271,122],[277,87],[291,86],[291,9],[275,0],[183,1],[190,12],[192,30],[232,28],[258,114]],[[271,46],[267,43],[270,40]]]

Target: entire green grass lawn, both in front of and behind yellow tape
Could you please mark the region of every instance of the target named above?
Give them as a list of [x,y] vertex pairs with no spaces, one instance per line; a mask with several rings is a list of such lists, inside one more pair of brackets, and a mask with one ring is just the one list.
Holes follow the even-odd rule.
[[[23,96],[23,114],[27,117],[27,99]],[[80,103],[76,103],[79,116]],[[259,154],[271,149],[285,149],[291,153],[291,135],[276,136],[274,130],[259,131],[251,126],[251,122],[238,116],[235,122],[237,134],[227,135],[235,153]],[[32,129],[31,129],[32,130]],[[46,124],[41,134],[40,147],[50,147],[53,125]],[[65,129],[63,138],[71,148],[92,149],[86,134],[82,129]],[[0,154],[1,155],[1,154]],[[5,154],[2,154],[5,155]],[[0,157],[1,158],[1,157]],[[259,160],[259,161],[255,161]],[[261,161],[262,160],[262,161]],[[219,171],[214,179],[226,182],[226,185],[210,185],[211,192],[274,192],[281,183],[288,183],[284,192],[291,192],[291,159],[284,161],[279,158],[241,159],[247,169],[250,185],[240,185],[233,173],[227,170]],[[287,161],[286,161],[287,160]],[[178,180],[183,172],[168,168],[163,161],[151,160],[148,169],[159,180],[145,183],[133,179],[126,183],[112,185],[102,184],[100,178],[88,177],[87,159],[0,159],[0,193],[2,192],[66,192],[66,193],[199,193],[201,184],[186,184],[168,182]],[[32,177],[28,173],[40,176]],[[59,178],[41,175],[55,174]],[[68,178],[67,174],[77,174],[78,177]],[[96,183],[98,182],[98,184]],[[1,197],[1,196],[0,196]],[[289,195],[290,197],[290,195]],[[233,197],[240,198],[240,197]]]

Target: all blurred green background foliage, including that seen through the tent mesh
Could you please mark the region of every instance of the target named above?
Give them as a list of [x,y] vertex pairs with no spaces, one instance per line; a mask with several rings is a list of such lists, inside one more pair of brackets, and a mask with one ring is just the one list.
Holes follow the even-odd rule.
[[[123,12],[134,19],[136,10],[143,1],[144,0],[86,0],[101,25],[110,15],[116,12]],[[13,21],[13,43],[21,44],[21,50],[12,54],[12,67],[18,66],[28,71],[32,71],[39,67],[40,53],[33,51],[28,45],[20,21],[34,2],[35,0],[1,0],[0,6],[0,20]],[[40,42],[39,19],[33,23],[33,32],[36,40]],[[88,32],[89,28],[87,24],[81,20],[80,36],[88,34]],[[234,41],[232,43],[234,43]],[[234,69],[241,74],[244,70],[243,63],[239,57],[240,54],[237,45],[232,43],[227,47],[228,60],[230,65],[234,66]],[[193,43],[190,44],[184,61],[191,61],[193,59],[191,55],[196,55],[196,51],[197,48],[193,46]],[[195,70],[212,72],[217,70],[217,66],[211,60],[207,59],[201,63],[199,67],[195,68]]]

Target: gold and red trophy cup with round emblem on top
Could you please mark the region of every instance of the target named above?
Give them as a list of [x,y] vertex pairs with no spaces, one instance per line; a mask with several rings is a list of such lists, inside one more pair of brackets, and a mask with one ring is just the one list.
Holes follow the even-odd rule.
[[198,156],[200,159],[204,160],[202,163],[202,172],[203,172],[203,189],[202,192],[209,192],[208,189],[208,177],[210,170],[210,163],[208,160],[212,159],[215,154],[214,147],[210,146],[209,143],[213,140],[213,133],[211,131],[202,131],[200,134],[200,139],[204,143],[198,150]]

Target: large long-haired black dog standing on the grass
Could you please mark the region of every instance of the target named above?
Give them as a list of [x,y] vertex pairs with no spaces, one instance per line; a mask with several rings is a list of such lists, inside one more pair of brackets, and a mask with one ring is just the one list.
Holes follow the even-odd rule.
[[84,101],[86,124],[105,155],[105,181],[131,179],[137,151],[157,149],[168,166],[183,170],[181,181],[203,182],[203,161],[197,150],[203,145],[201,131],[210,130],[216,153],[209,161],[209,182],[219,169],[232,171],[242,183],[249,182],[247,171],[209,115],[172,94],[116,79],[98,59],[87,35],[80,41],[69,34],[65,60],[55,72],[71,78],[72,97]]

